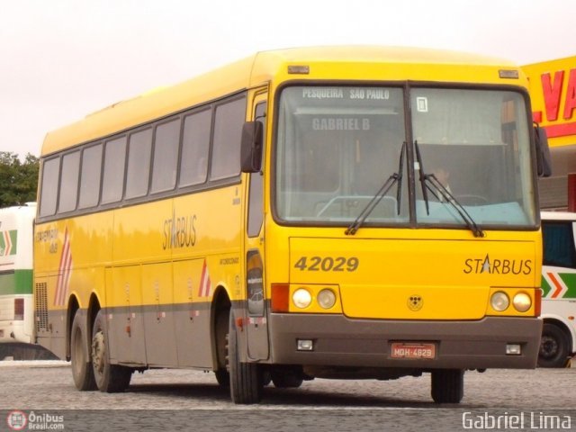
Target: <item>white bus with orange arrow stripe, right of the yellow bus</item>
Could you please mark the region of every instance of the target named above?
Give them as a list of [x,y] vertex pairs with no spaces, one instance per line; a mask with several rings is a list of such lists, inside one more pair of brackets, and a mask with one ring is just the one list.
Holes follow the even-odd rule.
[[563,367],[576,354],[576,213],[542,212],[544,329],[541,367]]

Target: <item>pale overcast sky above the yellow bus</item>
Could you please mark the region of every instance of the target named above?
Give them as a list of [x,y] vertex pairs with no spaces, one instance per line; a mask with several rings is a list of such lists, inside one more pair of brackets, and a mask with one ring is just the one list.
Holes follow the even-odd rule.
[[[260,50],[457,49],[519,65],[576,55],[576,0],[0,0],[0,151]],[[1,187],[1,185],[0,185]]]

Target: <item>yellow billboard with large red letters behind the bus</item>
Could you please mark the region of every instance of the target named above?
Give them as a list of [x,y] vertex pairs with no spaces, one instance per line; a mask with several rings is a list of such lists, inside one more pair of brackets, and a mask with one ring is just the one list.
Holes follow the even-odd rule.
[[530,80],[534,121],[551,146],[576,144],[576,57],[522,67]]

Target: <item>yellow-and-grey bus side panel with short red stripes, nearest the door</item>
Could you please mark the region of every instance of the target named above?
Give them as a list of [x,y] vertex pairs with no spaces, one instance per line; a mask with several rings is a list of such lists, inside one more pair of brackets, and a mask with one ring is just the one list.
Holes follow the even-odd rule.
[[223,288],[230,302],[242,295],[241,188],[232,184],[174,200],[175,225],[168,245],[174,260],[178,356],[179,362],[195,367],[217,367],[214,293]]

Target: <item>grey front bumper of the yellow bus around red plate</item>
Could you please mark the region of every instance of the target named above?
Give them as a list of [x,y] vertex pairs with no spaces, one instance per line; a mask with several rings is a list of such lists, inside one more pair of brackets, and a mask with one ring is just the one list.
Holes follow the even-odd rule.
[[[399,368],[534,368],[542,320],[488,317],[477,321],[349,320],[342,315],[271,314],[272,361],[284,365]],[[314,341],[298,351],[297,339]],[[392,342],[434,343],[434,359],[397,359]],[[522,354],[507,356],[507,344]]]

